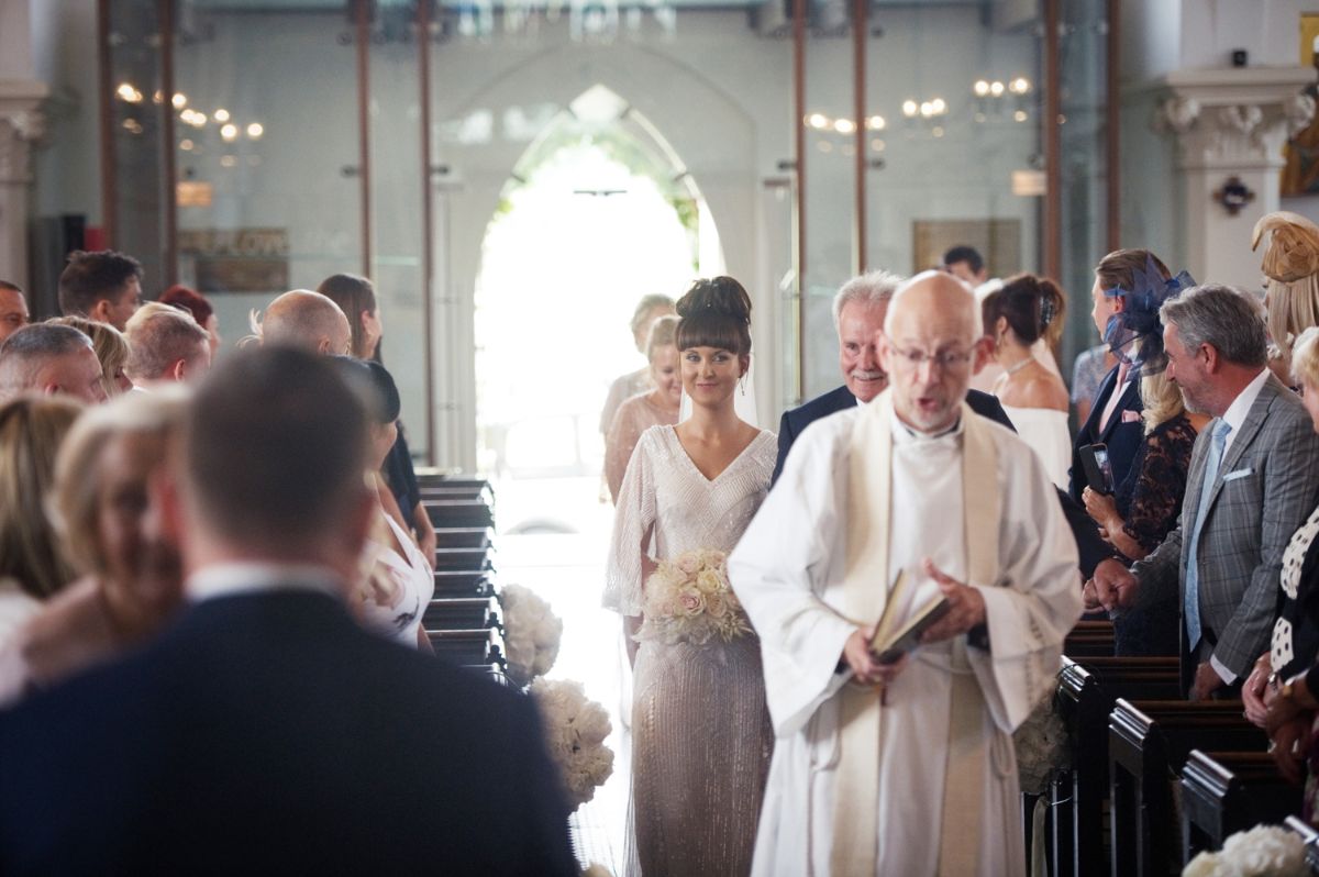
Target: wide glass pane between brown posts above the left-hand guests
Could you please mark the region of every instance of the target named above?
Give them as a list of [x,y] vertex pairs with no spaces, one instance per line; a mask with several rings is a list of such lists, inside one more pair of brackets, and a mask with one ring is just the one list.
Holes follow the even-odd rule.
[[233,343],[276,294],[363,273],[352,20],[347,3],[177,8],[178,278]]

